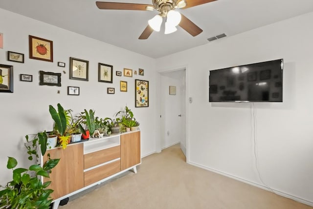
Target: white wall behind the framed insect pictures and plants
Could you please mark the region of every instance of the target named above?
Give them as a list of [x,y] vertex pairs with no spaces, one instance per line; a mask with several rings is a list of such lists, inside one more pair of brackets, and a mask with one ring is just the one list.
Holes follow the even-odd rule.
[[[5,168],[7,156],[16,157],[20,167],[31,163],[23,147],[24,136],[52,129],[49,104],[56,106],[61,103],[74,113],[92,108],[99,117],[113,117],[127,104],[140,122],[141,154],[147,155],[156,150],[154,59],[2,9],[0,20],[0,32],[4,34],[0,63],[14,66],[14,93],[0,93],[0,185],[11,179],[11,171]],[[29,59],[28,35],[53,41],[53,63]],[[6,61],[7,51],[23,53],[25,63]],[[69,79],[69,57],[89,60],[89,82]],[[58,67],[57,62],[66,63],[66,68]],[[113,65],[113,84],[98,82],[98,63]],[[144,76],[115,76],[115,71],[123,71],[124,67],[137,71],[142,68]],[[62,86],[40,86],[40,70],[56,73],[65,70],[66,74],[62,73]],[[19,81],[20,74],[33,75],[33,82]],[[134,107],[134,79],[149,81],[149,107]],[[128,82],[128,92],[119,91],[120,80]],[[79,86],[80,96],[68,96],[67,86]],[[115,87],[115,94],[108,95],[107,87]],[[60,94],[58,90],[61,90]]]

